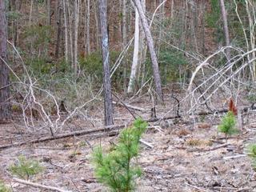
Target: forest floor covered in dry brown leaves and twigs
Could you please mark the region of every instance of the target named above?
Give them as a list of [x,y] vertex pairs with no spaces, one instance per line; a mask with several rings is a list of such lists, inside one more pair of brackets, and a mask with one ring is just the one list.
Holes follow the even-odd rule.
[[[141,98],[132,105],[150,109],[148,103],[150,98]],[[157,105],[158,117],[166,114],[170,105],[174,102]],[[99,119],[101,115],[98,114]],[[149,118],[150,112],[140,112],[140,115]],[[243,155],[246,145],[256,138],[254,114],[250,114],[250,121],[243,126],[240,134],[232,136],[227,142],[224,135],[217,131],[222,115],[209,115],[195,122],[185,119],[162,124],[151,122],[143,140],[153,148],[142,144],[138,162],[143,176],[137,181],[137,191],[256,191],[256,174],[250,158]],[[126,122],[129,125],[133,121],[123,106],[115,106],[115,119],[117,124]],[[33,133],[19,130],[18,124],[22,124],[22,119],[0,126],[0,146],[30,141],[35,137]],[[98,124],[102,124],[102,120]],[[78,130],[92,128],[89,122],[81,122]],[[43,136],[46,136],[45,131],[37,135]],[[0,180],[18,192],[47,191],[12,179],[8,167],[20,154],[24,154],[37,159],[45,167],[42,174],[30,179],[31,182],[69,191],[106,191],[94,178],[90,165],[91,146],[100,143],[110,146],[110,142],[115,142],[117,138],[116,135],[95,133],[0,150]]]

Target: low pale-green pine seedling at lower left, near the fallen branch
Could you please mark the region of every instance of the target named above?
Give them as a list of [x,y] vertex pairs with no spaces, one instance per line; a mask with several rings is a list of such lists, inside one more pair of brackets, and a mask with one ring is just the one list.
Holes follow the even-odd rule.
[[38,161],[27,159],[25,156],[21,155],[18,157],[17,162],[10,165],[9,170],[19,178],[28,180],[30,176],[42,172],[43,167]]

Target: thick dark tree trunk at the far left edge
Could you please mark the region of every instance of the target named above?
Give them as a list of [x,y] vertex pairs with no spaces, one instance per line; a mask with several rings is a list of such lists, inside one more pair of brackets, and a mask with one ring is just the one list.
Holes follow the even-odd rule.
[[10,118],[10,82],[7,62],[7,24],[5,1],[0,1],[0,122]]

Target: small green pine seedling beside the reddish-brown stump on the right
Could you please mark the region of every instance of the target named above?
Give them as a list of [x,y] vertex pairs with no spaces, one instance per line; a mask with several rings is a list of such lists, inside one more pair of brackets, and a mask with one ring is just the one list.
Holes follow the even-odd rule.
[[227,136],[232,134],[238,134],[238,129],[235,127],[236,119],[234,113],[229,111],[223,118],[221,124],[218,126],[218,131],[225,134],[226,142]]

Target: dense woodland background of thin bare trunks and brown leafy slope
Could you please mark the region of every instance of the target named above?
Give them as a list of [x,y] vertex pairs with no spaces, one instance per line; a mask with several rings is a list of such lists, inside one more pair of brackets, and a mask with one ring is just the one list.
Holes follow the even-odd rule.
[[[222,7],[221,2],[142,1],[154,38],[162,86],[175,82],[186,89],[198,64],[215,52],[210,65],[218,70],[226,67],[230,57],[254,50],[255,2],[230,0]],[[34,85],[49,90],[58,103],[65,100],[70,110],[94,97],[102,86],[103,74],[98,3],[6,1],[8,64],[12,69],[11,82],[15,84],[14,97],[26,95],[19,87],[20,82],[15,83],[16,75],[22,82],[30,75]],[[142,94],[141,88],[153,81],[144,30],[139,19],[136,25],[135,16],[133,2],[107,2],[112,89],[122,96],[136,94],[138,90]],[[134,31],[136,26],[138,30]],[[222,46],[231,48],[220,51]],[[253,51],[244,58],[250,60],[254,56]],[[242,62],[234,61],[233,68],[246,62],[244,58]],[[242,68],[248,72],[243,74],[249,78],[246,81],[254,79],[254,64],[250,62],[249,67]],[[211,71],[202,70],[202,76],[204,73]],[[200,78],[204,77],[199,74],[197,84]]]

